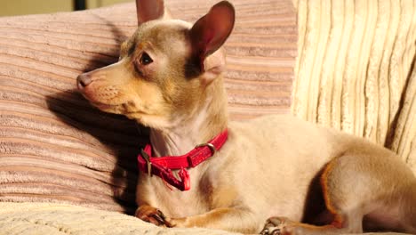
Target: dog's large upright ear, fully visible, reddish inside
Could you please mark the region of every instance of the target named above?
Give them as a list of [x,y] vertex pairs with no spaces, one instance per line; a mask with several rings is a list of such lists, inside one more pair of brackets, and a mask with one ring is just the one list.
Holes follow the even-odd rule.
[[219,49],[231,34],[235,18],[233,5],[222,1],[190,29],[193,57],[198,60],[205,83],[218,77],[225,67],[224,54]]

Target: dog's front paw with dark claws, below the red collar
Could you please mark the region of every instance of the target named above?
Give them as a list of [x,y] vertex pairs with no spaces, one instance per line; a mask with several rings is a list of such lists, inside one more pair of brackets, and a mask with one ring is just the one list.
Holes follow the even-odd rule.
[[172,228],[174,225],[164,216],[164,213],[155,207],[143,205],[137,208],[135,216],[142,221]]

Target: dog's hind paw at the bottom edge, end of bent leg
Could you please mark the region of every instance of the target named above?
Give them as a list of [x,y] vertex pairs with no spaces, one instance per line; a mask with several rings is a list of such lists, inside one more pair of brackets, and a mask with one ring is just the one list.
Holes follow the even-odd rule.
[[264,225],[261,235],[300,235],[298,223],[285,217],[271,217]]

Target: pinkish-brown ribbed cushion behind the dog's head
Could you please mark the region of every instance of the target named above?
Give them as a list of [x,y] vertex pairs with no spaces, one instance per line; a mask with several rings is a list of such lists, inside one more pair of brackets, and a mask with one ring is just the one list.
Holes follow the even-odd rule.
[[[217,1],[167,0],[193,21]],[[287,112],[297,51],[290,0],[236,0],[226,45],[231,117]],[[0,19],[0,201],[65,202],[132,212],[136,155],[126,118],[92,108],[76,76],[116,61],[135,5]]]

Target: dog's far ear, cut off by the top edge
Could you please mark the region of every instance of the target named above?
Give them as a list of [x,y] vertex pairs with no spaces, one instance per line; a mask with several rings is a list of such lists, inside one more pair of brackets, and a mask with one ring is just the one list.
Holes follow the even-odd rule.
[[164,0],[136,0],[136,10],[139,25],[160,19],[164,16]]

